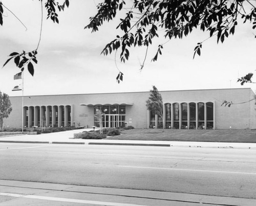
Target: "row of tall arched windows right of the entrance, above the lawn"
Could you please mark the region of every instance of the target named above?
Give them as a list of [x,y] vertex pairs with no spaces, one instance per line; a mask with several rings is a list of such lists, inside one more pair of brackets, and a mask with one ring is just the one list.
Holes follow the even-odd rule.
[[149,127],[172,129],[214,129],[214,102],[165,103],[163,120],[149,113]]

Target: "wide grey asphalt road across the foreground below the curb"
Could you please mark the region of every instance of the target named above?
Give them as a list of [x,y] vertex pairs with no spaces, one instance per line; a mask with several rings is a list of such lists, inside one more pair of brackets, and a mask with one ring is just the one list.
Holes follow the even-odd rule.
[[[30,190],[41,189],[40,183],[31,186],[28,182],[52,183],[47,186],[47,191],[58,188],[58,184],[65,185],[58,191],[62,191],[62,196],[67,192],[65,196],[69,198],[74,196],[66,191],[66,185],[70,188],[86,186],[82,187],[87,188],[86,192],[79,189],[83,195],[90,194],[93,188],[97,194],[126,196],[125,200],[115,199],[119,202],[117,205],[121,205],[120,202],[145,205],[200,203],[194,197],[218,200],[219,205],[246,205],[239,204],[239,201],[249,201],[247,205],[250,205],[251,201],[256,202],[255,149],[3,143],[0,144],[0,156],[0,205],[12,205],[14,201],[13,196],[1,195],[1,192],[31,194]],[[179,196],[179,201],[172,202],[175,195]],[[135,201],[133,198],[136,197],[140,200]],[[113,196],[99,199],[100,202],[110,202]],[[226,203],[228,200],[229,204]],[[54,200],[41,201],[43,205],[49,203],[44,201]],[[212,201],[209,200],[208,205]],[[92,205],[97,203],[106,205],[99,202]]]

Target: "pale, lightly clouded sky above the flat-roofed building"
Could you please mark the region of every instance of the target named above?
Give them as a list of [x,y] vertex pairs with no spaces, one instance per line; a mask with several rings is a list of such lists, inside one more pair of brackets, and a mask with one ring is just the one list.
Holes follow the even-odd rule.
[[[45,2],[45,1],[43,1]],[[59,2],[63,2],[59,0]],[[130,60],[121,63],[118,56],[101,55],[104,46],[116,35],[119,18],[106,22],[99,31],[84,30],[89,17],[96,14],[100,0],[70,1],[64,12],[59,12],[59,24],[54,24],[43,11],[41,40],[38,48],[38,64],[34,65],[32,77],[24,73],[24,95],[94,94],[148,91],[155,85],[158,90],[188,90],[251,87],[241,86],[238,77],[254,73],[256,31],[252,25],[239,24],[234,36],[217,44],[217,38],[203,43],[201,56],[193,59],[198,42],[208,38],[209,33],[196,30],[183,39],[172,39],[164,44],[163,55],[152,62],[157,45],[166,42],[156,39],[149,48],[143,62],[145,48],[130,50]],[[0,26],[0,65],[12,52],[32,51],[39,40],[41,5],[38,0],[2,0],[25,27],[4,8],[4,24]],[[254,35],[255,34],[255,35]],[[123,82],[116,81],[119,70],[124,74]],[[9,96],[22,96],[22,91],[12,91],[21,80],[13,80],[20,72],[13,61],[0,68],[0,90]],[[255,78],[254,78],[255,79]]]

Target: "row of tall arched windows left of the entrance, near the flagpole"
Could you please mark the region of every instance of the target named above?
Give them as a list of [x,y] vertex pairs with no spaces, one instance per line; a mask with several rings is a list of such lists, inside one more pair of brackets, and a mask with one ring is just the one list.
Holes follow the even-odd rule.
[[23,126],[73,126],[73,105],[24,106]]

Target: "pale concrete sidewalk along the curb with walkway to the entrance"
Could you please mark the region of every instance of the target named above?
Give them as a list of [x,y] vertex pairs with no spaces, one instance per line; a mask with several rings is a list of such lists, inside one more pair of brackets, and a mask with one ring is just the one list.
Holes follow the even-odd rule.
[[0,137],[0,143],[38,143],[38,144],[89,144],[89,145],[131,145],[159,147],[202,147],[202,148],[234,148],[256,149],[256,143],[225,143],[225,142],[179,142],[179,141],[144,141],[144,140],[82,140],[73,139],[74,133],[92,129],[77,129],[70,131],[24,134]]

